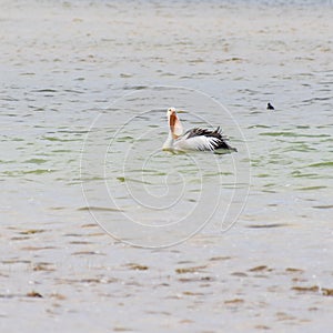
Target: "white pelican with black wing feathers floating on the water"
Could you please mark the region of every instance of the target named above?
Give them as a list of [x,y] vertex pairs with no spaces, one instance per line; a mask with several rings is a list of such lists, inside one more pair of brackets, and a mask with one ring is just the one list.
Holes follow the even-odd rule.
[[235,148],[230,147],[225,141],[228,140],[222,135],[220,127],[210,131],[206,129],[192,129],[183,133],[183,127],[176,115],[174,108],[169,108],[167,111],[169,122],[169,135],[163,144],[163,150],[171,151],[214,151],[216,149],[226,149],[236,151]]

